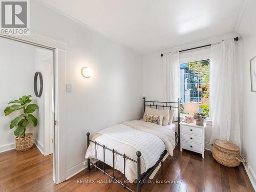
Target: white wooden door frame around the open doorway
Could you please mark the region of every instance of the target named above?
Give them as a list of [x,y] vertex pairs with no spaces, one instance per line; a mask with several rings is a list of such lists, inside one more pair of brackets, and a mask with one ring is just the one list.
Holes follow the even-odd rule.
[[30,31],[30,35],[0,37],[54,51],[53,182],[66,180],[66,42]]

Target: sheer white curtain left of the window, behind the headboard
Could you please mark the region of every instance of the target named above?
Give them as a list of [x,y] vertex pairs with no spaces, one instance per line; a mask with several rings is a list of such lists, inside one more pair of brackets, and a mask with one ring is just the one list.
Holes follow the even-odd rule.
[[[179,52],[163,55],[163,78],[165,101],[176,102],[180,98],[180,62]],[[175,116],[178,110],[175,110]]]

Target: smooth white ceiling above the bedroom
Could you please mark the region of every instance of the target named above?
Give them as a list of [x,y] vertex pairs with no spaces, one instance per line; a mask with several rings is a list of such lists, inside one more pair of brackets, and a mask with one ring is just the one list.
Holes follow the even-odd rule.
[[141,54],[234,32],[243,0],[43,0]]

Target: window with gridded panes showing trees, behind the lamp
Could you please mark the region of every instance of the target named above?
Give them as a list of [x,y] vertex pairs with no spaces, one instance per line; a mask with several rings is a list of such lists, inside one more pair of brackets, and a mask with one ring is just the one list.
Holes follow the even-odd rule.
[[209,65],[209,59],[180,64],[181,113],[185,102],[198,102],[199,113],[209,117]]

